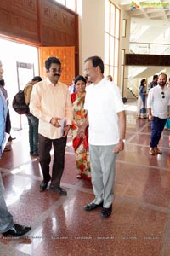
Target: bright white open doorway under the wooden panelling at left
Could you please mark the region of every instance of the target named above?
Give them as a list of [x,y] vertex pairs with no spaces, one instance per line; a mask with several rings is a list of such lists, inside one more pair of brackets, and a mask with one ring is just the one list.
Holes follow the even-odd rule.
[[[20,116],[18,113],[15,113],[12,108],[12,102],[18,90],[23,90],[34,75],[39,75],[38,49],[35,46],[20,44],[3,38],[0,38],[0,49],[0,60],[4,70],[3,79],[5,80],[5,88],[8,91],[12,129],[14,131],[27,129],[26,116]],[[21,67],[22,64],[23,67]],[[24,68],[27,64],[31,64],[33,69]]]

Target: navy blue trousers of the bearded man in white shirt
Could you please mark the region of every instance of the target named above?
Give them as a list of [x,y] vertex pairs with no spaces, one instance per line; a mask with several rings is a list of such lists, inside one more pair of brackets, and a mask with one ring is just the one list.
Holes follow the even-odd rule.
[[154,117],[151,122],[151,140],[150,140],[150,147],[154,148],[157,147],[160,139],[161,139],[161,132],[164,129],[167,119],[160,119],[158,117]]

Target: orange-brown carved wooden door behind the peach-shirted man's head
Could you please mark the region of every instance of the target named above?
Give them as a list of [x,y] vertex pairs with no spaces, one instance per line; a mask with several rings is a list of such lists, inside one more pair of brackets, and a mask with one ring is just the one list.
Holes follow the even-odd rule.
[[45,78],[45,61],[48,57],[59,58],[62,73],[59,81],[70,85],[75,78],[75,47],[39,47],[40,76]]

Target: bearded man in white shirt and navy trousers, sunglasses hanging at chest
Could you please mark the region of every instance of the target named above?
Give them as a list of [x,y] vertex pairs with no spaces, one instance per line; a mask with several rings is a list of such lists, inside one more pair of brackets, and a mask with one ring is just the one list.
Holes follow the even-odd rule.
[[[170,88],[167,87],[167,74],[161,73],[158,77],[158,84],[151,88],[148,94],[147,108],[151,123],[151,138],[149,154],[162,154],[157,147],[161,132],[170,117]],[[167,112],[168,106],[168,112]]]

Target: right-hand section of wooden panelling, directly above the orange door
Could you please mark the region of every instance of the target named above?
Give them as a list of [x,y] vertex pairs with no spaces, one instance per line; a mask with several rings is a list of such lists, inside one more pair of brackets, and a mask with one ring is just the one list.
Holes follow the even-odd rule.
[[41,5],[42,45],[76,46],[76,15],[48,0]]

